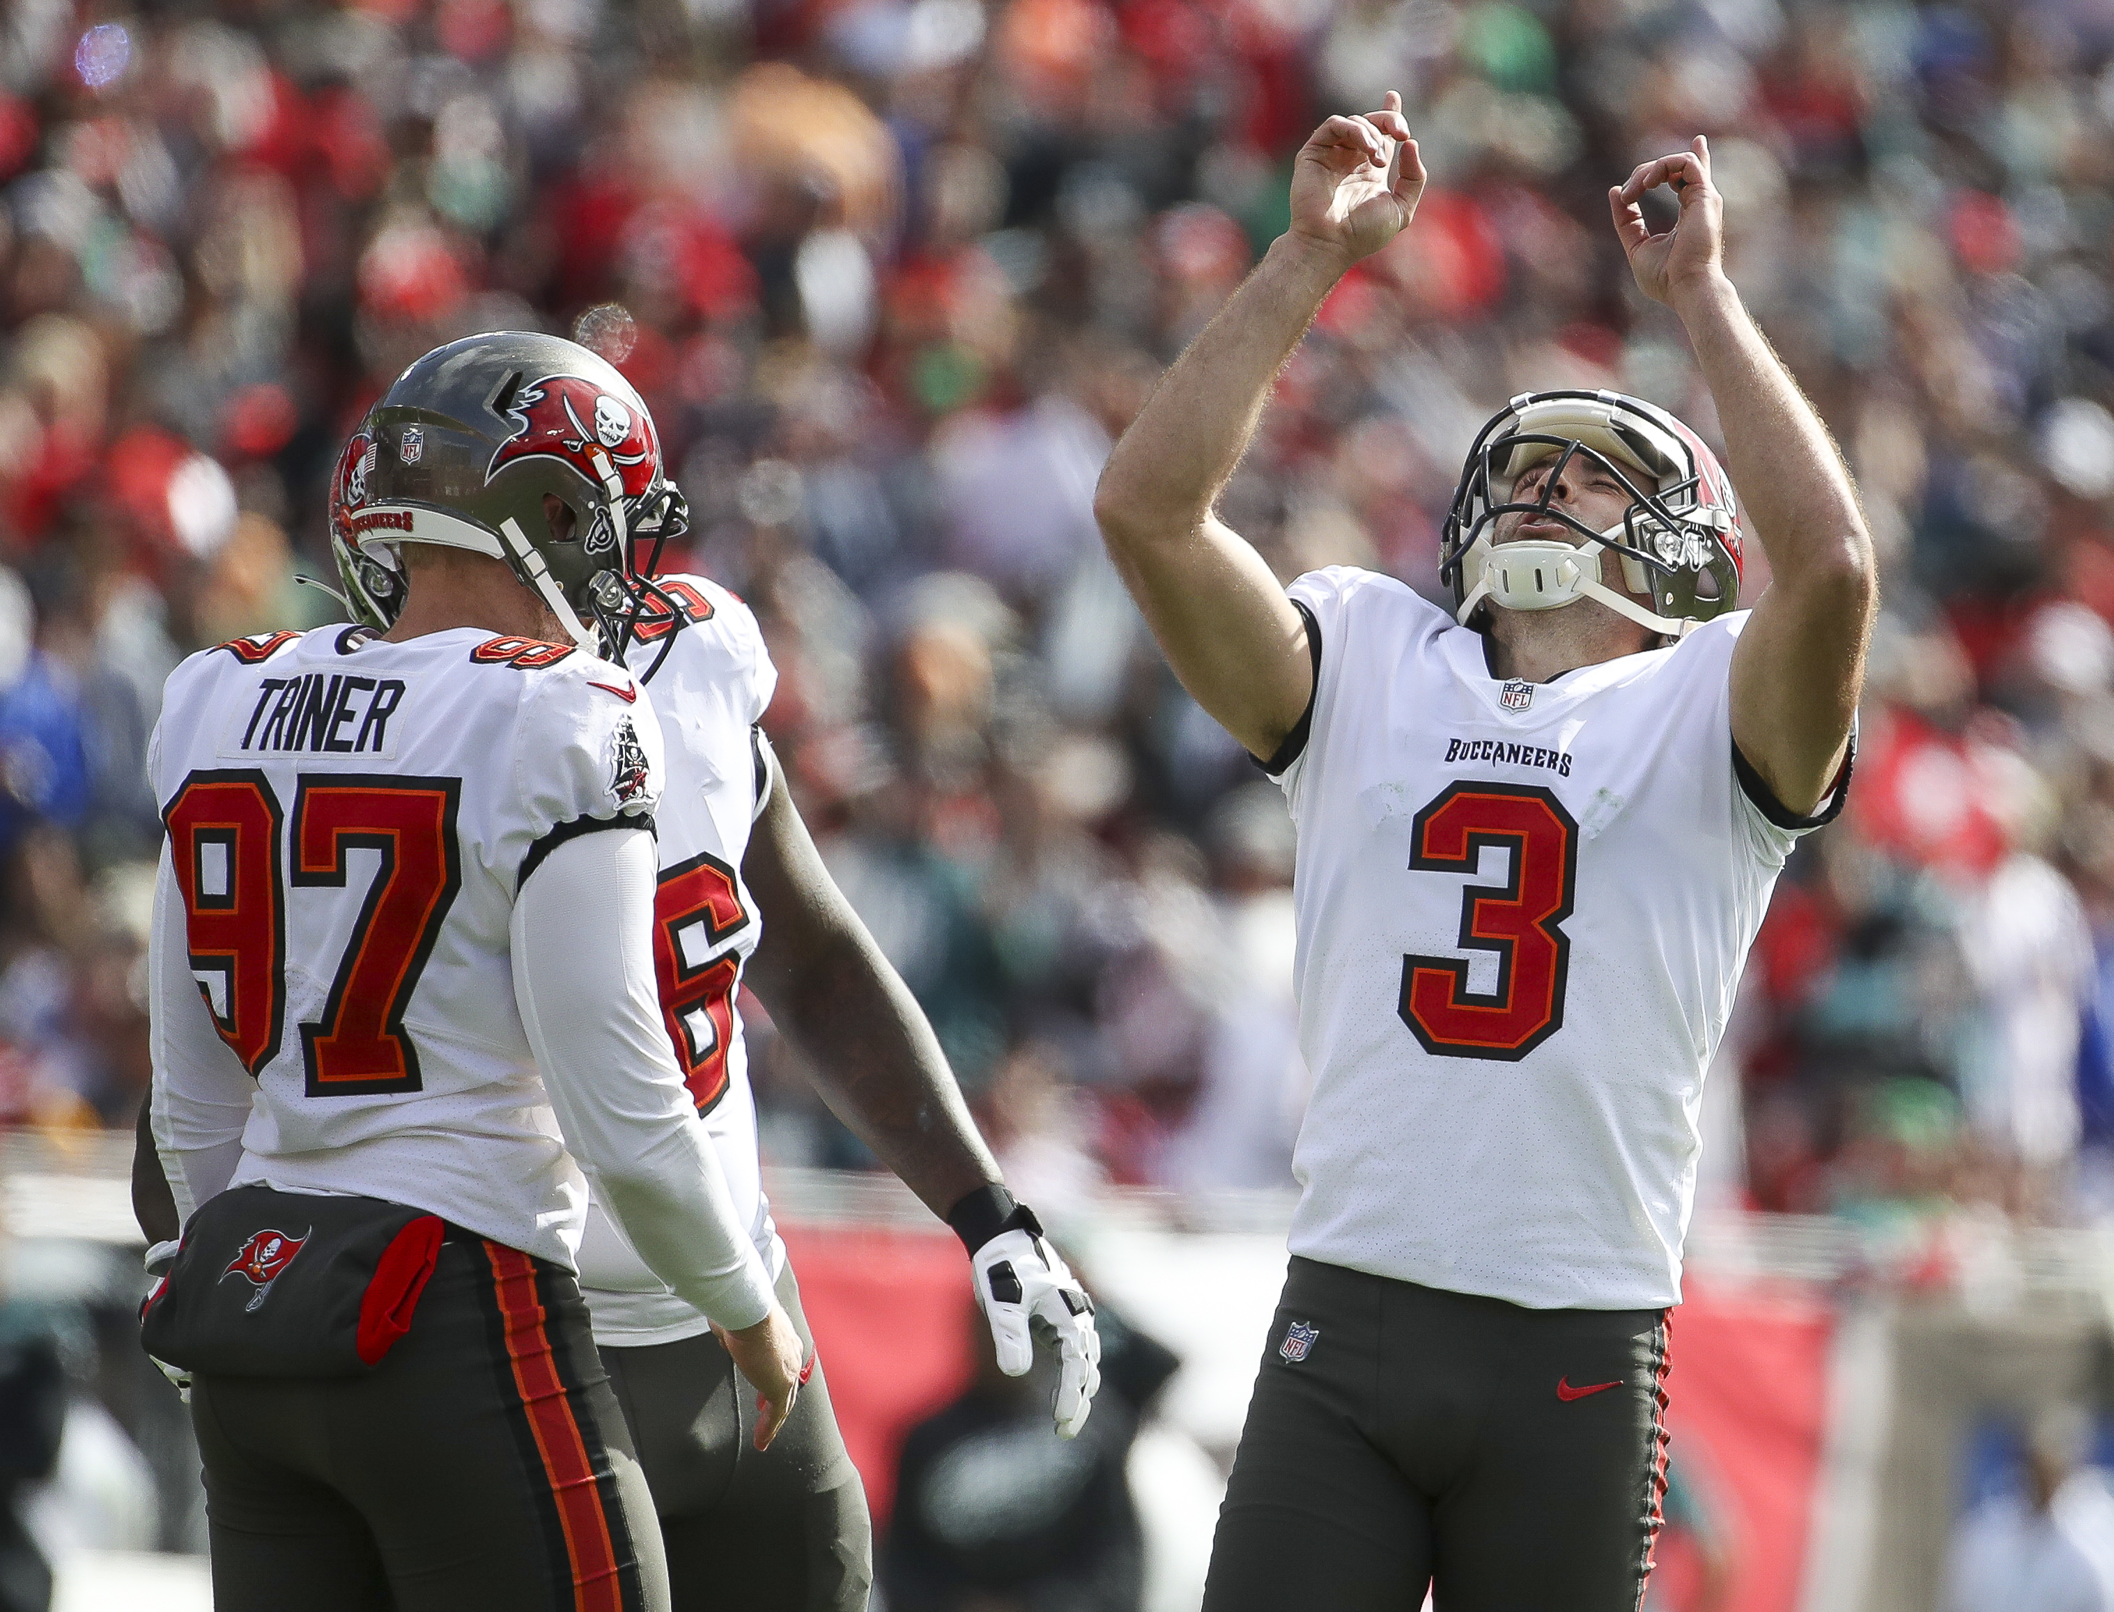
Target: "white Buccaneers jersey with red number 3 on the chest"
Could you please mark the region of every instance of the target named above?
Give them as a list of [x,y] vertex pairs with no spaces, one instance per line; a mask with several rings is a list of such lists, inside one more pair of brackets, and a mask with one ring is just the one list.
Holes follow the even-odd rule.
[[1736,775],[1746,615],[1528,685],[1389,577],[1290,594],[1321,640],[1279,780],[1315,1075],[1292,1253],[1528,1308],[1679,1304],[1704,1069],[1784,858],[1841,796],[1795,820]]

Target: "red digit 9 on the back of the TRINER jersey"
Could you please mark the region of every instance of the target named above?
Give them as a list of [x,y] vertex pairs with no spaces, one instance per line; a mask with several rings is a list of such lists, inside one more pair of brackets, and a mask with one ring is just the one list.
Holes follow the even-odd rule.
[[[256,816],[262,813],[262,822]],[[190,955],[192,985],[205,1001],[220,1039],[241,1058],[252,1080],[279,1052],[285,1033],[285,913],[279,904],[279,796],[254,767],[194,771],[169,801],[163,813],[169,830],[169,862],[175,885],[184,894],[184,944]],[[264,887],[245,889],[243,835],[262,832],[266,862]],[[203,896],[203,845],[226,847],[228,894]],[[247,900],[245,900],[247,896]],[[243,927],[264,925],[264,940]],[[222,944],[224,942],[224,944]],[[247,966],[245,966],[247,963]],[[262,974],[260,974],[262,970]],[[214,995],[197,974],[220,974],[228,1014],[214,1010]],[[258,1012],[258,1001],[268,1006]]]

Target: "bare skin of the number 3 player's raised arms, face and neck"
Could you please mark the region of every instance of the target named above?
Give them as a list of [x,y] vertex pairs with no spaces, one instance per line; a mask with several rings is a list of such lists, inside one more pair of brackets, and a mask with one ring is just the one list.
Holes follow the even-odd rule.
[[[1175,676],[1256,756],[1277,754],[1306,710],[1313,655],[1281,581],[1216,503],[1309,321],[1353,264],[1410,224],[1425,177],[1397,93],[1364,116],[1321,123],[1292,165],[1290,228],[1161,378],[1095,492],[1110,560]],[[1653,190],[1672,192],[1670,228],[1645,218]],[[1742,530],[1769,560],[1769,589],[1731,657],[1733,742],[1788,811],[1812,811],[1848,752],[1877,602],[1856,488],[1725,277],[1710,144],[1698,135],[1687,150],[1640,163],[1609,186],[1607,203],[1636,289],[1689,338],[1742,494]],[[1581,509],[1605,496],[1583,480],[1558,490]],[[1569,530],[1564,539],[1577,541]],[[1600,577],[1628,592],[1619,564],[1602,560]],[[1484,615],[1490,672],[1531,682],[1653,642],[1647,627],[1594,600]]]

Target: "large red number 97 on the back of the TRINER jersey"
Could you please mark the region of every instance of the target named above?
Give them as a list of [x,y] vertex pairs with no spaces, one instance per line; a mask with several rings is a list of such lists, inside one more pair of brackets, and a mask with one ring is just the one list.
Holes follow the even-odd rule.
[[[347,851],[381,854],[323,1016],[300,1027],[309,1096],[416,1092],[404,1010],[461,889],[455,777],[302,775],[294,796],[296,889],[347,889]],[[199,771],[169,803],[169,858],[184,896],[190,972],[214,1029],[262,1073],[285,1029],[285,904],[279,801],[264,773]]]

